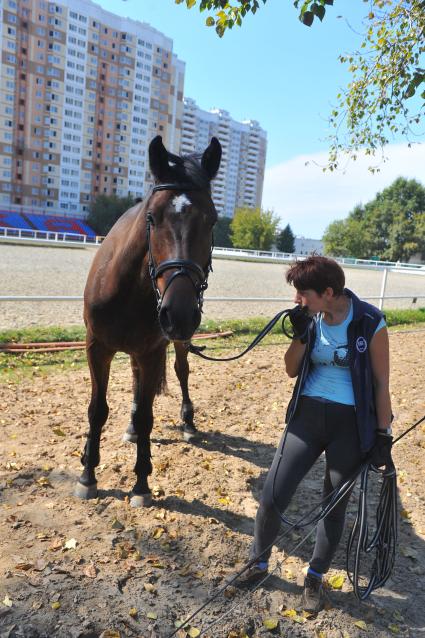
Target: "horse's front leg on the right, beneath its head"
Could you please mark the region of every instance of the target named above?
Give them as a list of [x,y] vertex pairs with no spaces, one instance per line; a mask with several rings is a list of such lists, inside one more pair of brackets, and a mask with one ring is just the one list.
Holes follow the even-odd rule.
[[140,400],[133,412],[133,426],[137,436],[137,459],[134,471],[137,476],[130,503],[133,507],[149,507],[152,493],[148,476],[152,474],[151,432],[153,427],[153,400],[165,379],[165,349],[155,353],[155,357],[138,360],[141,384]]

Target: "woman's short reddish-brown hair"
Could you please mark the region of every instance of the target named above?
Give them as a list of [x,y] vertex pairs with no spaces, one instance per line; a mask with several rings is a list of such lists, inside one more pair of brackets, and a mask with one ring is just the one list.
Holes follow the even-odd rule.
[[344,292],[345,275],[341,266],[329,257],[310,255],[296,261],[286,273],[286,281],[297,290],[315,290],[321,295],[326,288],[332,288],[338,297]]

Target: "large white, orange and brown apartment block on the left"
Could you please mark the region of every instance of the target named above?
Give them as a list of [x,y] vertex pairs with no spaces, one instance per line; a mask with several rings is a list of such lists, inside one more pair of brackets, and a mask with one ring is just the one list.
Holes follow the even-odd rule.
[[149,141],[181,145],[172,40],[90,0],[1,0],[0,42],[0,205],[84,217],[97,195],[142,197]]

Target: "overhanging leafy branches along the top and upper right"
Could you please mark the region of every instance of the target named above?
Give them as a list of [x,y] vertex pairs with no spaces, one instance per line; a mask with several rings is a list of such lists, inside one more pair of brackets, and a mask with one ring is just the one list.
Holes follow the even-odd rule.
[[[365,1],[365,0],[364,0]],[[213,12],[206,25],[222,37],[227,29],[241,26],[243,18],[256,13],[267,0],[175,0],[188,8]],[[299,18],[311,26],[325,17],[334,0],[295,0]],[[360,149],[374,155],[401,134],[410,140],[423,118],[414,96],[425,99],[425,0],[369,0],[364,17],[363,41],[358,51],[341,54],[351,81],[336,97],[329,116],[329,158],[327,168],[337,168],[341,153],[356,158]],[[422,87],[422,89],[421,89]],[[421,92],[422,90],[422,92]],[[371,170],[377,170],[371,168]]]

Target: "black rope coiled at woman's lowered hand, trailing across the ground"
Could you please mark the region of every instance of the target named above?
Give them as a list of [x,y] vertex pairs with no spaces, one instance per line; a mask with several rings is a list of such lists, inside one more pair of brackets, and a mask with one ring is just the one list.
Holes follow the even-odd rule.
[[[399,437],[397,437],[393,445],[398,443],[400,439],[402,439],[406,434],[414,430],[420,423],[425,421],[425,415],[419,419],[416,423],[414,423],[411,427],[405,430]],[[367,487],[368,487],[368,473],[370,470],[377,472],[383,477],[383,484],[381,487],[380,500],[378,504],[378,508],[376,511],[376,532],[370,543],[367,542],[367,533],[368,533],[368,523],[367,523]],[[309,536],[316,529],[318,523],[322,518],[325,518],[333,509],[338,505],[338,503],[349,493],[354,487],[356,480],[359,475],[362,475],[361,487],[360,487],[360,499],[359,499],[359,508],[356,517],[356,521],[354,523],[353,529],[350,533],[350,538],[347,544],[347,574],[350,579],[350,582],[353,585],[353,590],[357,598],[360,600],[365,600],[370,593],[381,587],[391,575],[392,568],[394,566],[395,559],[395,547],[397,544],[397,483],[396,483],[396,471],[395,468],[388,468],[388,470],[380,471],[376,468],[373,468],[371,464],[366,461],[362,463],[359,468],[353,473],[351,478],[345,481],[340,487],[335,488],[332,492],[328,494],[328,496],[323,499],[321,502],[317,503],[307,514],[304,514],[298,521],[295,523],[289,523],[288,528],[271,543],[263,552],[267,551],[272,547],[275,543],[281,542],[288,534],[293,530],[300,527],[305,527],[307,525],[314,524],[312,529],[304,536],[301,541],[293,548],[291,551],[287,553],[286,557],[277,563],[276,567],[268,572],[263,580],[261,580],[257,585],[250,590],[250,593],[253,593],[258,589],[264,582],[270,578],[270,576],[280,568],[283,563],[287,560],[287,558],[301,547],[303,543],[309,538]],[[324,504],[327,502],[328,504],[325,506]],[[321,513],[314,516],[309,520],[309,517],[318,509],[321,508]],[[305,520],[307,519],[307,521]],[[357,536],[357,544],[356,544],[356,536]],[[355,558],[354,558],[354,567],[353,571],[349,570],[349,556],[350,551],[355,549]],[[370,553],[373,549],[376,550],[375,560],[372,566],[372,575],[369,579],[369,583],[367,586],[361,586],[359,584],[360,580],[360,564],[361,564],[361,555],[362,552]],[[262,552],[262,554],[263,554]],[[261,555],[255,556],[251,558],[239,572],[230,579],[230,581],[226,582],[225,585],[220,587],[212,596],[210,596],[200,607],[198,607],[179,627],[173,631],[167,638],[173,638],[180,629],[187,627],[187,625],[199,615],[201,611],[203,611],[211,602],[213,602],[220,594],[223,594],[228,587],[232,585],[244,572],[246,572],[250,567],[252,567],[258,560],[260,560]],[[244,598],[242,598],[238,603],[233,605],[230,609],[226,610],[223,614],[221,614],[217,619],[215,619],[212,623],[207,625],[204,629],[201,630],[199,636],[204,635],[211,627],[220,622],[223,618],[225,618],[228,614],[231,613],[234,609],[239,607]]]

